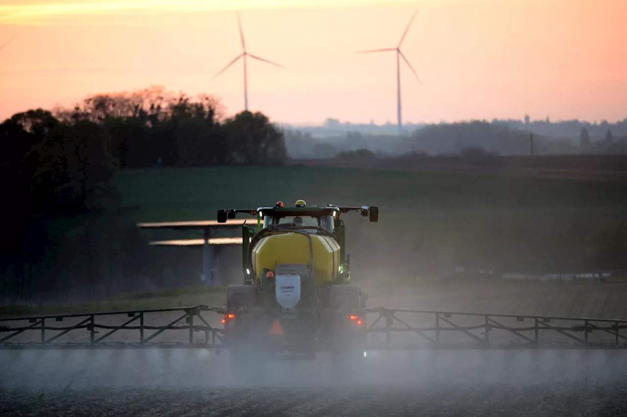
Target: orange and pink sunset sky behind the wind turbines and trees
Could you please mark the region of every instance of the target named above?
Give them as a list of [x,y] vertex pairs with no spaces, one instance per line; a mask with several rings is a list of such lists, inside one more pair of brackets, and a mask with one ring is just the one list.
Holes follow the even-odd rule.
[[[226,6],[228,6],[228,8]],[[627,117],[627,0],[0,0],[0,118],[88,94],[164,85],[277,122]]]

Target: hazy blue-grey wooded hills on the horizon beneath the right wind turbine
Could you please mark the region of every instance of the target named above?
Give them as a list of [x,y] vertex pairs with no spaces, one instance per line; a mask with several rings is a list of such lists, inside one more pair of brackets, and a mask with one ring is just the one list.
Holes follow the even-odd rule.
[[402,136],[398,135],[393,125],[364,126],[334,122],[321,127],[293,129],[283,125],[281,128],[292,158],[332,158],[341,152],[357,149],[368,149],[387,156],[408,152],[429,155],[478,152],[502,156],[627,154],[627,125],[622,122],[587,125],[473,120],[416,125],[411,134],[406,132]]

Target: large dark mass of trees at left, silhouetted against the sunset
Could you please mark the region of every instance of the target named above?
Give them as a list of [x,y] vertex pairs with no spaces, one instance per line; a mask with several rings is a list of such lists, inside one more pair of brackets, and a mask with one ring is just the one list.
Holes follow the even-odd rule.
[[[122,259],[142,250],[129,246],[139,239],[132,224],[115,216],[119,169],[277,165],[287,157],[282,132],[262,113],[224,119],[213,97],[161,87],[16,113],[0,124],[0,141],[0,175],[11,197],[0,243],[5,297],[52,290],[60,280],[65,287],[86,276],[100,282],[100,267],[120,279],[107,265],[146,273],[141,262]],[[92,259],[102,253],[120,260]]]

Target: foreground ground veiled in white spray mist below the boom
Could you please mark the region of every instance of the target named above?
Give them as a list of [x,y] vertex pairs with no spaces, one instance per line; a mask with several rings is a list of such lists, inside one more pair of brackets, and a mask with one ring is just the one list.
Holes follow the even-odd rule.
[[618,416],[619,351],[373,352],[361,374],[330,361],[276,361],[234,386],[228,354],[207,351],[0,352],[0,415]]

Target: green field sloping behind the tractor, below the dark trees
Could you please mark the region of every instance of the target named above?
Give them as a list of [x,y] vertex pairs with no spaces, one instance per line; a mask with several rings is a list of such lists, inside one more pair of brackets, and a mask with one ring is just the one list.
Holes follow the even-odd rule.
[[627,248],[603,235],[627,230],[627,181],[291,166],[124,171],[119,183],[136,221],[214,219],[219,208],[301,198],[379,206],[377,224],[344,216],[347,243],[357,268],[391,275],[460,264],[616,269]]

